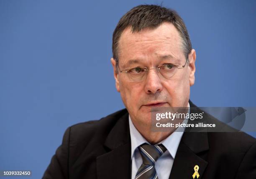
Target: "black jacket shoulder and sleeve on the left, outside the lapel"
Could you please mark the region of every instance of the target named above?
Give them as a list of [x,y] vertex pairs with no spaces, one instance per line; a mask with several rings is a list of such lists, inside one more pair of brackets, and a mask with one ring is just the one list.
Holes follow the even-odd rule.
[[84,172],[87,176],[95,178],[96,157],[105,154],[104,142],[118,124],[127,127],[126,109],[100,120],[82,122],[68,127],[62,144],[52,157],[43,178],[68,178],[68,176],[81,178]]

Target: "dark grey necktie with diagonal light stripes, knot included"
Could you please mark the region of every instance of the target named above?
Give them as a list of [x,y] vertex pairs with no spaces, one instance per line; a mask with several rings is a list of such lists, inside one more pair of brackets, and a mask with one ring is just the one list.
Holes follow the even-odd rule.
[[166,151],[164,145],[142,144],[138,147],[141,152],[142,164],[135,179],[158,179],[155,164],[156,160]]

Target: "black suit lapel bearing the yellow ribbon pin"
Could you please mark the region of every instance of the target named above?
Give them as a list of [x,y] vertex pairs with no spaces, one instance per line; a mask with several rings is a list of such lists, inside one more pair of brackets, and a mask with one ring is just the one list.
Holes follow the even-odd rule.
[[[189,104],[190,107],[193,108],[190,112],[201,112],[191,101],[189,101]],[[188,132],[188,130],[185,129],[177,149],[169,179],[193,179],[192,175],[195,173],[195,165],[199,167],[199,179],[202,179],[208,164],[208,162],[205,161],[205,154],[208,149],[207,132]],[[197,179],[197,177],[195,177],[195,179]]]

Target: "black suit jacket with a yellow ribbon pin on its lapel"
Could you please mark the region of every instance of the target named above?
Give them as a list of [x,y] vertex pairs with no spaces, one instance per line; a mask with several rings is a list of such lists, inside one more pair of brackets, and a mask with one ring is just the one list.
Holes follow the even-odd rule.
[[[216,120],[210,115],[207,118]],[[199,166],[199,179],[256,179],[256,139],[243,132],[184,132],[169,179],[192,179],[195,165]],[[108,178],[131,178],[126,109],[69,127],[43,176]]]

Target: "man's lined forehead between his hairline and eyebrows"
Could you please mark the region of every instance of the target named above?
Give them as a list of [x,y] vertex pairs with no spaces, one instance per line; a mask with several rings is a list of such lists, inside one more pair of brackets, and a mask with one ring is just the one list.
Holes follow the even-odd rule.
[[145,61],[158,56],[172,56],[175,59],[184,57],[181,38],[176,27],[170,22],[163,22],[156,28],[144,28],[140,32],[131,32],[126,28],[119,41],[119,60]]

